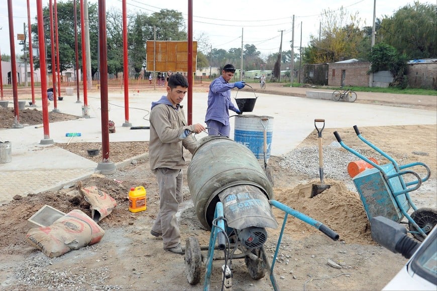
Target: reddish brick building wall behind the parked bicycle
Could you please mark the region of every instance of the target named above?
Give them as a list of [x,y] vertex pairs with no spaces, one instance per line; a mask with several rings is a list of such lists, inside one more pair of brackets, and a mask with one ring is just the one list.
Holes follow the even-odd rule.
[[328,85],[341,86],[342,72],[345,72],[344,86],[369,86],[369,62],[330,63],[328,69]]

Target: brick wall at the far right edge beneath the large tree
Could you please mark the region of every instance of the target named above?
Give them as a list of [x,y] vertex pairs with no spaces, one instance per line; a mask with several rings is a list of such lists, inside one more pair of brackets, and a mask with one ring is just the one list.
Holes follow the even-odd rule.
[[437,63],[408,64],[408,85],[411,88],[437,90]]

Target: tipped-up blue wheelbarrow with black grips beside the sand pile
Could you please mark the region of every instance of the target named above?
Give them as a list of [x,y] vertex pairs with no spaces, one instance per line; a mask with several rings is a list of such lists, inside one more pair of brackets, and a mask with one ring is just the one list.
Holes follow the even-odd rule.
[[[417,240],[423,241],[434,225],[437,224],[437,210],[432,208],[417,209],[409,193],[417,190],[422,182],[429,179],[431,174],[429,167],[420,162],[399,166],[392,157],[366,140],[361,135],[357,125],[354,125],[354,130],[364,143],[390,161],[385,165],[374,163],[374,161],[349,148],[342,141],[340,134],[337,131],[334,132],[337,141],[344,149],[374,167],[364,170],[352,179],[360,194],[369,221],[373,217],[383,216],[395,222],[404,223],[402,219],[405,217],[408,220],[409,232]],[[409,169],[416,166],[425,168],[427,174],[424,178]],[[411,181],[405,182],[404,177]],[[413,210],[411,216],[407,213],[410,208]]]

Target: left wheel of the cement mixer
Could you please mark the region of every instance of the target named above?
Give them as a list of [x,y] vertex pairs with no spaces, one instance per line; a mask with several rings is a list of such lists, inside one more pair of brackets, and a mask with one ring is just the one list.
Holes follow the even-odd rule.
[[185,273],[188,283],[195,285],[200,281],[202,274],[202,254],[199,241],[189,237],[185,243]]

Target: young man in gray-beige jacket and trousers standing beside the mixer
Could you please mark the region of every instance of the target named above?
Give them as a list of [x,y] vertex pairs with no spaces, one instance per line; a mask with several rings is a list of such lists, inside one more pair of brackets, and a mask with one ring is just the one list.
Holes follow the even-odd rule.
[[191,137],[179,138],[186,132],[199,133],[205,129],[200,124],[187,125],[185,112],[179,105],[187,92],[187,79],[172,74],[168,79],[167,96],[152,102],[150,111],[150,169],[159,186],[159,212],[150,233],[162,236],[164,249],[181,253],[180,232],[176,213],[182,202],[182,168],[185,166],[183,148],[194,153],[197,142]]

